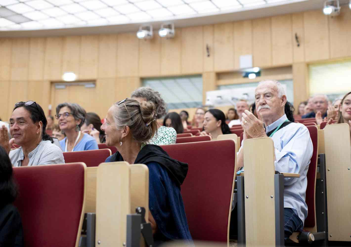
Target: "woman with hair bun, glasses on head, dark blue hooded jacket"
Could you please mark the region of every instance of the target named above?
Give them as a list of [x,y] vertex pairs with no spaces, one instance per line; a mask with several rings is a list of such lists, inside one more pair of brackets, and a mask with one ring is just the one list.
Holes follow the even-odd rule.
[[160,146],[147,144],[157,131],[155,105],[134,99],[116,102],[101,129],[106,145],[118,152],[105,162],[127,161],[149,169],[149,221],[155,245],[167,240],[191,240],[180,185],[188,164],[172,159]]

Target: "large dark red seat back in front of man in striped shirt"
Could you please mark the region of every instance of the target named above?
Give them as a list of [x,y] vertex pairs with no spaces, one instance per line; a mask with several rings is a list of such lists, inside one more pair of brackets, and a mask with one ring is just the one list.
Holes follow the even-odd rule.
[[13,168],[26,247],[76,245],[85,169],[84,163]]

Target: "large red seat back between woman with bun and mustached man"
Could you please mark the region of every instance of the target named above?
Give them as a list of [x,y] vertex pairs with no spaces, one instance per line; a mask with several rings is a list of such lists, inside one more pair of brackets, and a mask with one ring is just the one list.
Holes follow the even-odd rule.
[[227,242],[235,165],[234,140],[161,147],[172,158],[189,164],[181,194],[193,239]]

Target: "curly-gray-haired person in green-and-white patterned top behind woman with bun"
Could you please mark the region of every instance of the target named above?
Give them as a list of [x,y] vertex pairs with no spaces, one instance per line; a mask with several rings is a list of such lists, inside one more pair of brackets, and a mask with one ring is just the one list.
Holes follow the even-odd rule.
[[[151,101],[155,107],[154,120],[162,118],[166,114],[166,103],[162,99],[161,94],[154,91],[151,87],[139,87],[132,95],[132,99],[139,101]],[[160,126],[157,122],[157,132],[150,140],[150,144],[154,145],[167,145],[176,143],[177,132],[173,128]]]

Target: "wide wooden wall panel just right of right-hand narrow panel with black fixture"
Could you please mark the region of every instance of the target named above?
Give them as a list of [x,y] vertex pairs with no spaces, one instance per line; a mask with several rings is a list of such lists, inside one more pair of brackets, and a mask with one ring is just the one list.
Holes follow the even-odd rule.
[[304,12],[304,29],[306,61],[328,59],[330,57],[328,16],[320,9]]

